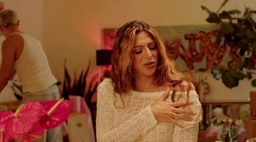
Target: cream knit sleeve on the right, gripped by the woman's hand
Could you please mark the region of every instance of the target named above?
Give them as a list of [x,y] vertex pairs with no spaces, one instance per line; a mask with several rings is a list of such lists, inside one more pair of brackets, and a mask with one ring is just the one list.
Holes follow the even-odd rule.
[[[186,101],[188,98],[186,95],[182,95],[179,101]],[[198,95],[195,90],[189,91],[189,100],[194,101],[193,104],[189,104],[188,106],[184,106],[184,108],[195,111],[196,115],[189,115],[189,117],[193,118],[192,122],[185,122],[182,120],[178,120],[181,124],[186,125],[186,129],[175,126],[172,136],[173,142],[196,142],[198,136],[198,127],[199,122],[202,120],[202,105],[198,100]]]

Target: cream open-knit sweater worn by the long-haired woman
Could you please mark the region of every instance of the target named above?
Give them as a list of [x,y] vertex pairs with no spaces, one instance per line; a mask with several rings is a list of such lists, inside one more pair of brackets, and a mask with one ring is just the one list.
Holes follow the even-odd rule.
[[[100,83],[97,92],[97,141],[197,141],[198,124],[202,120],[201,104],[194,90],[189,91],[193,104],[184,106],[195,111],[193,122],[178,120],[186,124],[186,129],[176,125],[157,122],[150,105],[164,92],[136,92],[120,95],[113,92],[110,79]],[[172,91],[166,101],[172,101]],[[186,92],[177,92],[175,100],[187,101]],[[115,106],[116,103],[116,106]],[[124,108],[125,106],[125,108]]]

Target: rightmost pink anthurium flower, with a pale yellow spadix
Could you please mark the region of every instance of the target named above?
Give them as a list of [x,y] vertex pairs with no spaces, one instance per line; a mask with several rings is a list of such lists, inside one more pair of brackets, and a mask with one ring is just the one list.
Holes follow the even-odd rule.
[[40,125],[45,129],[57,127],[65,122],[70,114],[71,106],[68,100],[60,99],[60,101],[43,101],[40,102],[44,106],[44,111],[40,119]]

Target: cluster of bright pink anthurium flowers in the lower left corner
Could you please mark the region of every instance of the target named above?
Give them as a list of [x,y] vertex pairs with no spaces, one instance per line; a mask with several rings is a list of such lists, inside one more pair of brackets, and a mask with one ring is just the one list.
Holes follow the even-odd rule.
[[33,141],[44,136],[45,129],[57,127],[70,114],[70,103],[64,99],[27,102],[12,111],[0,112],[0,141]]

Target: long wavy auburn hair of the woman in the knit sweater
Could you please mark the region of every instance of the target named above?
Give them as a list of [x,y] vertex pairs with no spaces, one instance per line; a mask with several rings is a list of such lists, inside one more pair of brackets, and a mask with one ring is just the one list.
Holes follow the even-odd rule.
[[[157,86],[171,86],[173,89],[173,100],[177,87],[180,87],[180,90],[184,91],[184,85],[182,85],[182,82],[186,80],[188,81],[189,77],[184,76],[175,69],[175,63],[172,59],[167,57],[166,48],[164,47],[163,41],[157,34],[156,30],[152,26],[140,20],[127,22],[120,27],[116,33],[111,59],[112,70],[110,76],[114,91],[118,94],[122,94],[134,89],[132,48],[134,46],[136,34],[142,31],[148,32],[156,42],[157,46],[158,61],[156,73],[154,74],[154,84]],[[188,83],[188,85],[188,90],[190,90],[190,83]]]

